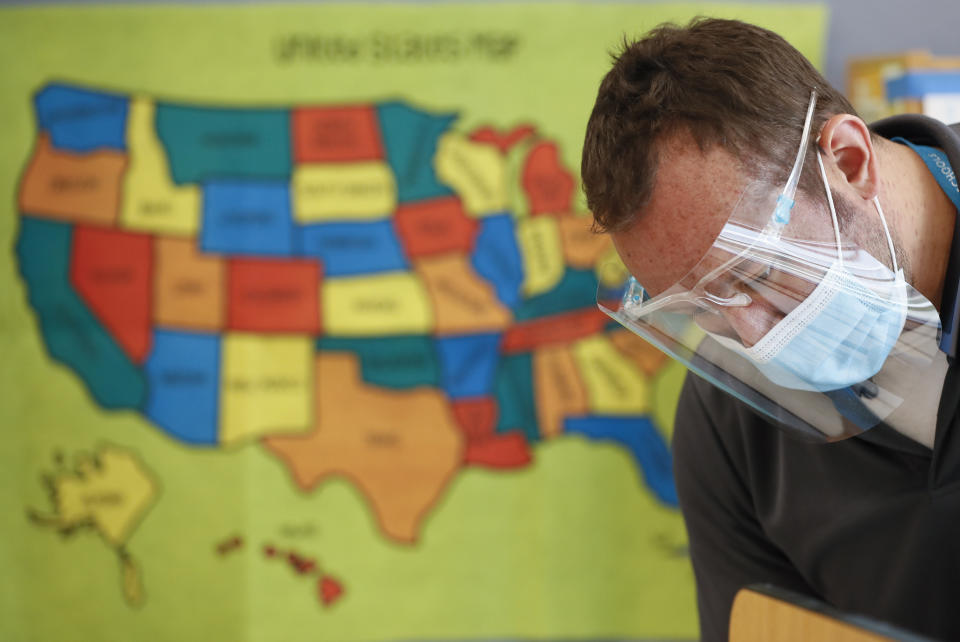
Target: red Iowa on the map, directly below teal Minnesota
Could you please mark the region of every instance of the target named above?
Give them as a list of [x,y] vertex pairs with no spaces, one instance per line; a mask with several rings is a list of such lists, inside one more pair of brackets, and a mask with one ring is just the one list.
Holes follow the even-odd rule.
[[473,250],[477,222],[456,196],[400,205],[394,214],[397,234],[411,258]]

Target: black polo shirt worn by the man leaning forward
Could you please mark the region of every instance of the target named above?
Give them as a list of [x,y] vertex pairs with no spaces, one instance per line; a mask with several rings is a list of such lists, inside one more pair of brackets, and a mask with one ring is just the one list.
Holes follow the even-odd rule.
[[[922,116],[873,126],[942,149],[960,128]],[[699,377],[673,439],[702,640],[726,640],[733,597],[758,582],[945,640],[960,640],[960,225],[941,304],[949,368],[930,449],[879,425],[809,444]],[[937,382],[939,383],[939,382]]]

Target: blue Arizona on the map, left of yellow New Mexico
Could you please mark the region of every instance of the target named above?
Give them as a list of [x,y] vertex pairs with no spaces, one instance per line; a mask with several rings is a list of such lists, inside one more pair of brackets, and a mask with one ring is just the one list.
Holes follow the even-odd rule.
[[157,330],[145,370],[147,418],[180,441],[216,445],[220,337]]

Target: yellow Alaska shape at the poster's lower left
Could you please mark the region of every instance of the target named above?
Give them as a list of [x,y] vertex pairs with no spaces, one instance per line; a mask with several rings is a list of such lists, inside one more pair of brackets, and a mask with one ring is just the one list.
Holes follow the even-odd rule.
[[63,530],[91,525],[114,548],[127,542],[157,496],[156,482],[137,457],[112,446],[78,455],[75,470],[51,482],[56,515],[48,523]]

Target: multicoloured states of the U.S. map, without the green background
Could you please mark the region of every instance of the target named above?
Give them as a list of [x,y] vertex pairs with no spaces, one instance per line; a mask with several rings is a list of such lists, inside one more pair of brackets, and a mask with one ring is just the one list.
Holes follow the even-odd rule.
[[[346,479],[404,544],[459,471],[525,467],[564,435],[619,444],[676,505],[648,406],[663,357],[596,309],[623,274],[535,126],[64,83],[34,109],[16,258],[46,349],[100,407],[191,448],[261,448],[298,492]],[[72,505],[102,497],[98,462],[141,480],[127,519],[84,513],[131,559],[149,453],[78,462],[50,478]],[[69,529],[56,496],[30,514]]]

